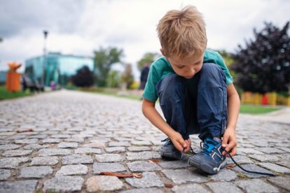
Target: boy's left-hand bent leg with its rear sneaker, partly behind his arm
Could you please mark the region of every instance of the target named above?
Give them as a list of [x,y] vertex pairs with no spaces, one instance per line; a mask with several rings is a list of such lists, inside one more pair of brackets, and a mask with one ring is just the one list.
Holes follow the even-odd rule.
[[[184,89],[185,79],[176,74],[166,76],[156,85],[160,107],[166,122],[184,139],[188,139],[184,120]],[[161,157],[181,159],[182,153],[174,147],[170,138],[165,139],[165,141],[165,145],[160,150]]]

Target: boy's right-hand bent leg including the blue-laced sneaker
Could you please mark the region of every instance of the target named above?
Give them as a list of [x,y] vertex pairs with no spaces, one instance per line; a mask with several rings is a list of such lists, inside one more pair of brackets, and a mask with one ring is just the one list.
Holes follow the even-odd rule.
[[202,172],[214,174],[226,166],[221,136],[226,127],[226,76],[216,64],[203,64],[198,83],[198,123],[204,145],[188,160]]

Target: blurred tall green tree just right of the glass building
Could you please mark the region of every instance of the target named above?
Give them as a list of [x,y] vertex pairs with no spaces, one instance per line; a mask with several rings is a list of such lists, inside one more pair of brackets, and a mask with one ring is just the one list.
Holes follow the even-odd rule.
[[106,86],[106,79],[112,64],[120,62],[123,50],[118,48],[99,48],[95,51],[95,77],[99,87]]

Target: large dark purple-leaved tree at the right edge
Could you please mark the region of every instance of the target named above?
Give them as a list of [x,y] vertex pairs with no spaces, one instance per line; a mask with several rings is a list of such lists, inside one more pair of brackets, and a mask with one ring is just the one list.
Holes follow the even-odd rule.
[[254,40],[238,45],[230,69],[236,73],[235,83],[250,92],[285,92],[290,83],[289,22],[282,29],[265,22],[261,31],[254,29]]

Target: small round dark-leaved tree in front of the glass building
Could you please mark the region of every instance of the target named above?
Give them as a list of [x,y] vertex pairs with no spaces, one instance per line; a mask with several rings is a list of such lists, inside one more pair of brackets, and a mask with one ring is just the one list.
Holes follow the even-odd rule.
[[76,71],[76,75],[71,76],[71,81],[77,87],[90,87],[94,85],[94,74],[88,66],[83,66]]

